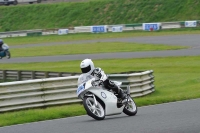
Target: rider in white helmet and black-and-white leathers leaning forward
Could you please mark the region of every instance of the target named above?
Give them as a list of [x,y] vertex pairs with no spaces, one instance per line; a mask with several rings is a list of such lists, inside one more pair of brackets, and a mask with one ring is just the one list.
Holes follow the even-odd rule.
[[112,89],[115,93],[117,93],[118,97],[122,99],[122,102],[126,101],[127,96],[123,90],[119,88],[114,82],[109,80],[101,68],[95,68],[91,59],[84,59],[80,64],[80,68],[82,74],[79,76],[78,84],[86,82],[87,80],[94,77],[95,80],[99,81],[99,83],[102,83],[106,89]]

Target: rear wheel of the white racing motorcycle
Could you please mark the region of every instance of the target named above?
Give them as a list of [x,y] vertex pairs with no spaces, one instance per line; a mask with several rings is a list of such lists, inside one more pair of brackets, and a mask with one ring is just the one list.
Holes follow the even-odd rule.
[[134,100],[130,96],[128,98],[128,102],[127,102],[126,106],[124,107],[123,112],[129,116],[134,116],[137,114],[137,106],[136,106]]

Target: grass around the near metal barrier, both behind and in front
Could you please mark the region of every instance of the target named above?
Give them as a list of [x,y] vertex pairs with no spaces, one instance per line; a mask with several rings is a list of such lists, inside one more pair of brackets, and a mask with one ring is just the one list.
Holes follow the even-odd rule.
[[[155,92],[135,98],[138,106],[200,98],[200,56],[94,60],[106,73],[154,70]],[[1,64],[3,69],[80,72],[80,61]],[[112,67],[110,66],[112,64]],[[123,65],[122,65],[123,64]],[[0,114],[0,126],[85,114],[81,105],[65,105]]]

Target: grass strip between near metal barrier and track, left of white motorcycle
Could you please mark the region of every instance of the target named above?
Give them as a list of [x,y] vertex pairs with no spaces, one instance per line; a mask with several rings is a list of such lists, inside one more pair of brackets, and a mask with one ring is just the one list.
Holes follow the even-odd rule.
[[11,112],[0,115],[0,126],[65,118],[83,114],[85,114],[85,110],[80,104]]

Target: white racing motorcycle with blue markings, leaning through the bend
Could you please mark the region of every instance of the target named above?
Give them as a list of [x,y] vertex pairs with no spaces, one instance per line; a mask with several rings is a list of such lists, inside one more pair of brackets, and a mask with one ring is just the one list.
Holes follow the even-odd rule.
[[[113,81],[118,87],[122,82]],[[92,78],[78,86],[78,98],[83,100],[83,106],[89,116],[96,120],[103,120],[105,116],[117,115],[124,112],[126,115],[134,116],[137,113],[137,106],[130,96],[130,86],[124,90],[127,95],[125,103],[121,102],[112,90],[96,83]]]

